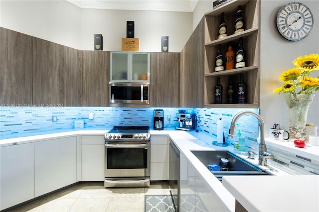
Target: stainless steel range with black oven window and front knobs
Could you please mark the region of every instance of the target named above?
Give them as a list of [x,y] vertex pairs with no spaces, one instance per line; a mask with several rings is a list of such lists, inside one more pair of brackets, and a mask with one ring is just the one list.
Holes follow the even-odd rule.
[[105,138],[105,187],[150,187],[148,126],[114,126]]

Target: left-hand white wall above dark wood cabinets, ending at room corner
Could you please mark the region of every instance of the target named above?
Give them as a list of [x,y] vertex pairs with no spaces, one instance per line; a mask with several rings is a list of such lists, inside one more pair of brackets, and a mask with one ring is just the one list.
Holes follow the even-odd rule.
[[76,49],[80,47],[79,7],[61,0],[1,0],[0,4],[1,27]]

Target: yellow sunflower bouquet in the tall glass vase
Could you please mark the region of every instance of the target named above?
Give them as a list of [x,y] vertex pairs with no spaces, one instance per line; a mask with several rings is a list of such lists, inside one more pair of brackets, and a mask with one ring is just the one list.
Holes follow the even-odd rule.
[[310,73],[319,70],[319,54],[298,57],[293,61],[295,68],[280,75],[283,85],[274,93],[314,94],[319,91],[319,77],[310,77]]

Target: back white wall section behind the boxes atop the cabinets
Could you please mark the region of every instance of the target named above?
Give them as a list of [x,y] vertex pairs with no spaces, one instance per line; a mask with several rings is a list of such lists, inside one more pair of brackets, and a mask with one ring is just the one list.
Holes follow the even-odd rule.
[[180,52],[192,33],[191,12],[82,9],[82,49],[93,50],[94,33],[102,34],[104,50],[121,51],[126,21],[134,21],[140,51],[160,52],[161,36],[168,35],[169,52]]

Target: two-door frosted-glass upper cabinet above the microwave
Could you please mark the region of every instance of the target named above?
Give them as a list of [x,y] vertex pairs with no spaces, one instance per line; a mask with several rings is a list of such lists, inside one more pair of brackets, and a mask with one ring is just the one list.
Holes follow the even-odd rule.
[[150,82],[150,52],[110,52],[110,82]]

